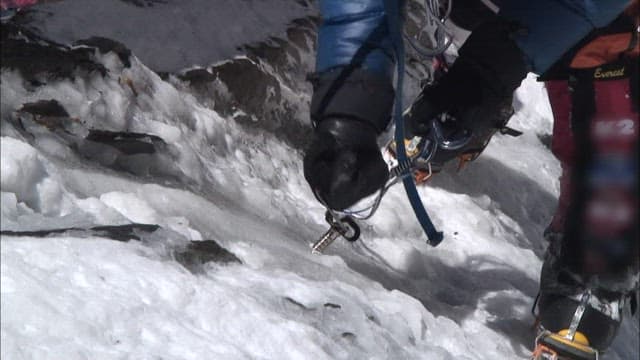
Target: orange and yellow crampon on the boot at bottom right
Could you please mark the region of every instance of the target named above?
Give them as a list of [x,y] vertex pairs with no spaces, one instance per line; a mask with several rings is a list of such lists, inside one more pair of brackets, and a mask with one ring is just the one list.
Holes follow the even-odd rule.
[[542,331],[536,339],[531,360],[598,360],[598,350],[589,346],[584,334],[569,330],[558,333]]

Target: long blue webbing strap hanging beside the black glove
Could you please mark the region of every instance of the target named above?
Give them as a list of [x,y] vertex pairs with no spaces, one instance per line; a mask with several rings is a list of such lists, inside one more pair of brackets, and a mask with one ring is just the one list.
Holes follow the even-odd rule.
[[[395,141],[397,148],[398,163],[402,164],[407,161],[407,152],[404,146],[404,120],[402,117],[402,87],[404,85],[404,42],[401,34],[401,20],[400,9],[401,6],[398,1],[384,0],[385,12],[387,13],[387,26],[389,27],[389,35],[393,43],[394,52],[396,55],[396,93],[395,93],[395,108],[393,119],[396,125]],[[402,180],[404,189],[407,192],[407,197],[411,203],[422,229],[427,234],[427,243],[432,246],[438,245],[442,239],[442,232],[436,230],[435,226],[431,222],[427,210],[425,210],[422,200],[418,195],[418,189],[414,182],[413,176],[405,176]]]

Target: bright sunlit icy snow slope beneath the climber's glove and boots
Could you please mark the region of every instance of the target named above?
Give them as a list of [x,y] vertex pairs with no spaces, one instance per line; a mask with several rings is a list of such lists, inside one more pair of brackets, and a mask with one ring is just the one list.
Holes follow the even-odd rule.
[[[163,77],[94,50],[83,64],[104,76],[2,70],[2,358],[526,357],[558,192],[544,91],[519,90],[522,138],[497,137],[420,189],[447,237],[438,248],[395,188],[361,242],[312,256],[326,230],[301,168],[312,23]],[[68,116],[23,107],[51,99]],[[130,223],[160,228],[129,242],[6,235]],[[185,263],[201,240],[242,263]],[[609,358],[636,358],[637,333],[627,321]]]

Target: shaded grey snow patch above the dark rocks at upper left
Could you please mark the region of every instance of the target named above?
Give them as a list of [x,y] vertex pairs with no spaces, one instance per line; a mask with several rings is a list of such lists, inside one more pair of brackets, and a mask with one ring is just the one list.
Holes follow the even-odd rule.
[[124,42],[151,69],[179,71],[239,55],[238,45],[316,13],[309,0],[64,0],[30,8],[29,26],[62,44]]

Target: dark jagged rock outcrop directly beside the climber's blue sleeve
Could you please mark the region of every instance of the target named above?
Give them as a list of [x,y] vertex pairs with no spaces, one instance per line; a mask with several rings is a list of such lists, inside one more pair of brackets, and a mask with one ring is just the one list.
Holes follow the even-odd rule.
[[318,22],[315,17],[296,19],[283,38],[239,48],[246,57],[189,70],[178,78],[202,103],[233,116],[246,131],[267,132],[302,149],[312,129],[308,105],[298,100],[311,92],[305,78],[313,71]]

